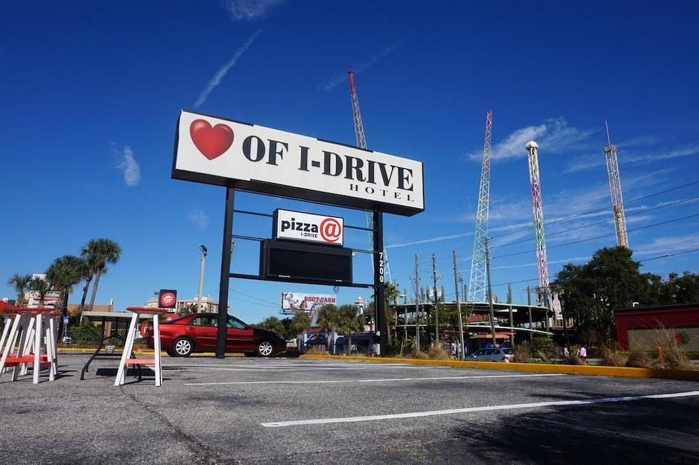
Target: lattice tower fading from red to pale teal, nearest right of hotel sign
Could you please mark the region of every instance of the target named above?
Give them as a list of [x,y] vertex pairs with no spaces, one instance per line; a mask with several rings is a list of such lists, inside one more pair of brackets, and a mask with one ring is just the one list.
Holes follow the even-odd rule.
[[485,142],[483,162],[478,188],[478,209],[476,212],[476,232],[473,236],[473,258],[471,258],[471,279],[468,286],[468,301],[485,302],[486,294],[486,254],[485,238],[488,236],[488,212],[490,205],[490,147],[493,131],[493,112],[485,114]]

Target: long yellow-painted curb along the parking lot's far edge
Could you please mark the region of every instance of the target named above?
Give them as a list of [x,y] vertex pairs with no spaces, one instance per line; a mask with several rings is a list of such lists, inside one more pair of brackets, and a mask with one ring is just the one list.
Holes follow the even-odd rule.
[[389,357],[347,357],[345,355],[301,355],[305,358],[361,360],[363,362],[410,363],[431,367],[486,368],[535,373],[575,374],[586,376],[619,376],[622,378],[661,378],[679,381],[699,381],[698,370],[600,367],[596,365],[556,365],[548,363],[462,362],[461,360],[418,360]]

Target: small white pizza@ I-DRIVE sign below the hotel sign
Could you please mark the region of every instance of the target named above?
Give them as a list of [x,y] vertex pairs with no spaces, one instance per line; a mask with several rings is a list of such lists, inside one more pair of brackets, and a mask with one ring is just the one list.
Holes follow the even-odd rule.
[[336,216],[314,215],[278,209],[275,212],[275,239],[293,239],[342,246],[345,221]]

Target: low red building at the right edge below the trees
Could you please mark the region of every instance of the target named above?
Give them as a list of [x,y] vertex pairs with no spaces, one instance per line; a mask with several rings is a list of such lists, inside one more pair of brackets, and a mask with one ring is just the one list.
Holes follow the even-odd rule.
[[618,309],[614,310],[614,320],[621,350],[662,346],[663,335],[669,331],[684,348],[699,351],[699,304]]

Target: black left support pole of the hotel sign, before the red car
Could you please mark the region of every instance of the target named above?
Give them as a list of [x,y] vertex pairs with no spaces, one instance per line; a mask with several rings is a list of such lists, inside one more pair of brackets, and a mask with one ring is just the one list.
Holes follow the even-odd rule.
[[219,282],[219,312],[216,331],[216,358],[226,357],[226,327],[228,326],[228,288],[231,282],[231,249],[233,248],[233,199],[236,189],[226,187],[226,213],[221,247],[221,281]]

